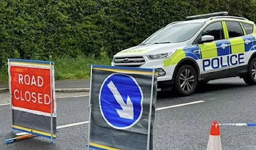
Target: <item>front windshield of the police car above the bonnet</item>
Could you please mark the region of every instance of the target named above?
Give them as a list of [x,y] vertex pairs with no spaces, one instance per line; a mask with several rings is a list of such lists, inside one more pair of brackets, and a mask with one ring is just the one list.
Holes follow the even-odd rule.
[[143,45],[184,42],[192,38],[203,25],[203,23],[168,25],[150,37]]

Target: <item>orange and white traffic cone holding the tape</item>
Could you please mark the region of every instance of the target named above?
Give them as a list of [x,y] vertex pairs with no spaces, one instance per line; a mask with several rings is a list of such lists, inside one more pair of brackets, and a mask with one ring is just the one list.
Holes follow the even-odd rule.
[[207,150],[221,150],[221,135],[218,121],[212,122]]

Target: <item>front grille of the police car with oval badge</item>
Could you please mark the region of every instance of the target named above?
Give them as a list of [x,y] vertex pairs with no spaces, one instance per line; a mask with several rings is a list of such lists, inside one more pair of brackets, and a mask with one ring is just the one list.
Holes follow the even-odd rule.
[[139,57],[116,57],[114,59],[115,66],[123,67],[140,67],[144,64],[145,59],[142,56]]

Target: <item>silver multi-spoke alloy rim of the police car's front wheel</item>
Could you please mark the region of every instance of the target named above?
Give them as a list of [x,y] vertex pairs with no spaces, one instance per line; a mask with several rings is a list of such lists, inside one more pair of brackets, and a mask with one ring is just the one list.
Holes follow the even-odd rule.
[[[256,62],[255,62],[255,69],[254,69],[254,71],[255,70],[256,70]],[[195,77],[192,74],[192,71],[190,71],[189,69],[184,69],[180,73],[180,88],[183,91],[186,91],[186,92],[191,91],[192,88],[193,88],[194,82],[195,82]]]

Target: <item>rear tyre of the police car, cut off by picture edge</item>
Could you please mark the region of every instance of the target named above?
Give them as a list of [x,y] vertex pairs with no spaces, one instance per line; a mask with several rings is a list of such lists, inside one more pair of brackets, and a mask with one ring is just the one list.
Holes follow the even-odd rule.
[[253,58],[247,67],[247,74],[244,76],[247,85],[256,85],[256,58]]

